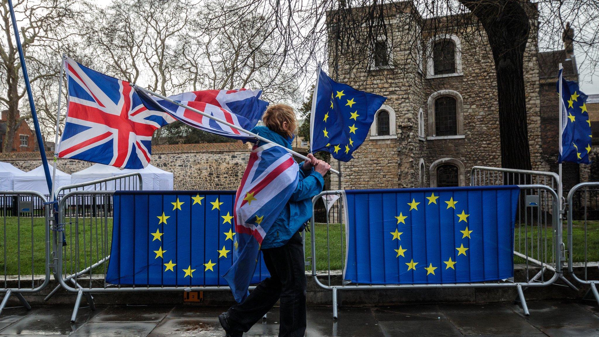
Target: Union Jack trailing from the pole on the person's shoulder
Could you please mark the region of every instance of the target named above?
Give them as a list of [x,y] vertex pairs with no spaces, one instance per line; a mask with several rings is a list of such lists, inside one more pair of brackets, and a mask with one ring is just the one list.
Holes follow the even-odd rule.
[[[253,140],[235,128],[214,121],[197,112],[185,109],[177,104],[160,98],[150,97],[143,89],[135,88],[146,107],[150,110],[164,110],[174,118],[190,127],[219,134],[233,139]],[[244,130],[252,130],[258,124],[268,103],[260,99],[261,90],[232,89],[232,90],[202,90],[184,92],[168,98],[193,109],[207,113],[222,121],[237,125]]]

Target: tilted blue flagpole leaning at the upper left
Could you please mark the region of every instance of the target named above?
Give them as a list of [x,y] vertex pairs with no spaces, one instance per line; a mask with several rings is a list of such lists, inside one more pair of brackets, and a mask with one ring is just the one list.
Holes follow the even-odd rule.
[[23,71],[23,82],[25,82],[25,88],[27,89],[27,97],[29,98],[29,108],[31,109],[31,117],[34,120],[35,136],[37,137],[38,148],[40,149],[41,163],[44,167],[44,174],[46,174],[46,183],[48,184],[48,191],[51,194],[53,194],[52,179],[50,179],[50,169],[48,167],[48,160],[46,158],[46,147],[44,145],[44,139],[41,137],[40,122],[38,122],[37,113],[35,113],[34,97],[31,93],[31,83],[29,83],[29,75],[27,74],[25,56],[23,55],[23,47],[21,46],[21,38],[19,36],[19,28],[17,28],[17,19],[14,16],[12,0],[8,0],[8,10],[10,10],[11,21],[13,22],[14,40],[16,41],[17,50],[19,51],[19,61],[21,62],[21,70]]

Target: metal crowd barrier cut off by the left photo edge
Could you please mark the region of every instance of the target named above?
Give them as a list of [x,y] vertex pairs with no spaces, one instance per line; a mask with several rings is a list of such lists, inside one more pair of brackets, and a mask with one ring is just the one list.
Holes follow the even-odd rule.
[[[43,217],[38,216],[40,206]],[[35,191],[0,191],[2,214],[2,273],[4,299],[0,312],[15,294],[28,310],[23,294],[41,291],[50,280],[50,205],[46,197]]]

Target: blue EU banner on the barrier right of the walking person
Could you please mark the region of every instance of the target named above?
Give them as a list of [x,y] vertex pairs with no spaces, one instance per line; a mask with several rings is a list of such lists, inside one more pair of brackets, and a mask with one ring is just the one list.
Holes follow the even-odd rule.
[[513,277],[518,186],[345,193],[346,281],[447,284]]

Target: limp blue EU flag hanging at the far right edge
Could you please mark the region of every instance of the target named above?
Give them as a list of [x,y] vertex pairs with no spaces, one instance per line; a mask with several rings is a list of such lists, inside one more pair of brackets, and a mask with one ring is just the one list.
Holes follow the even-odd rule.
[[559,83],[562,86],[562,142],[559,145],[559,163],[571,161],[572,163],[588,164],[591,153],[591,119],[586,110],[586,98],[580,91],[578,83],[562,79],[562,70],[559,70],[557,91]]

